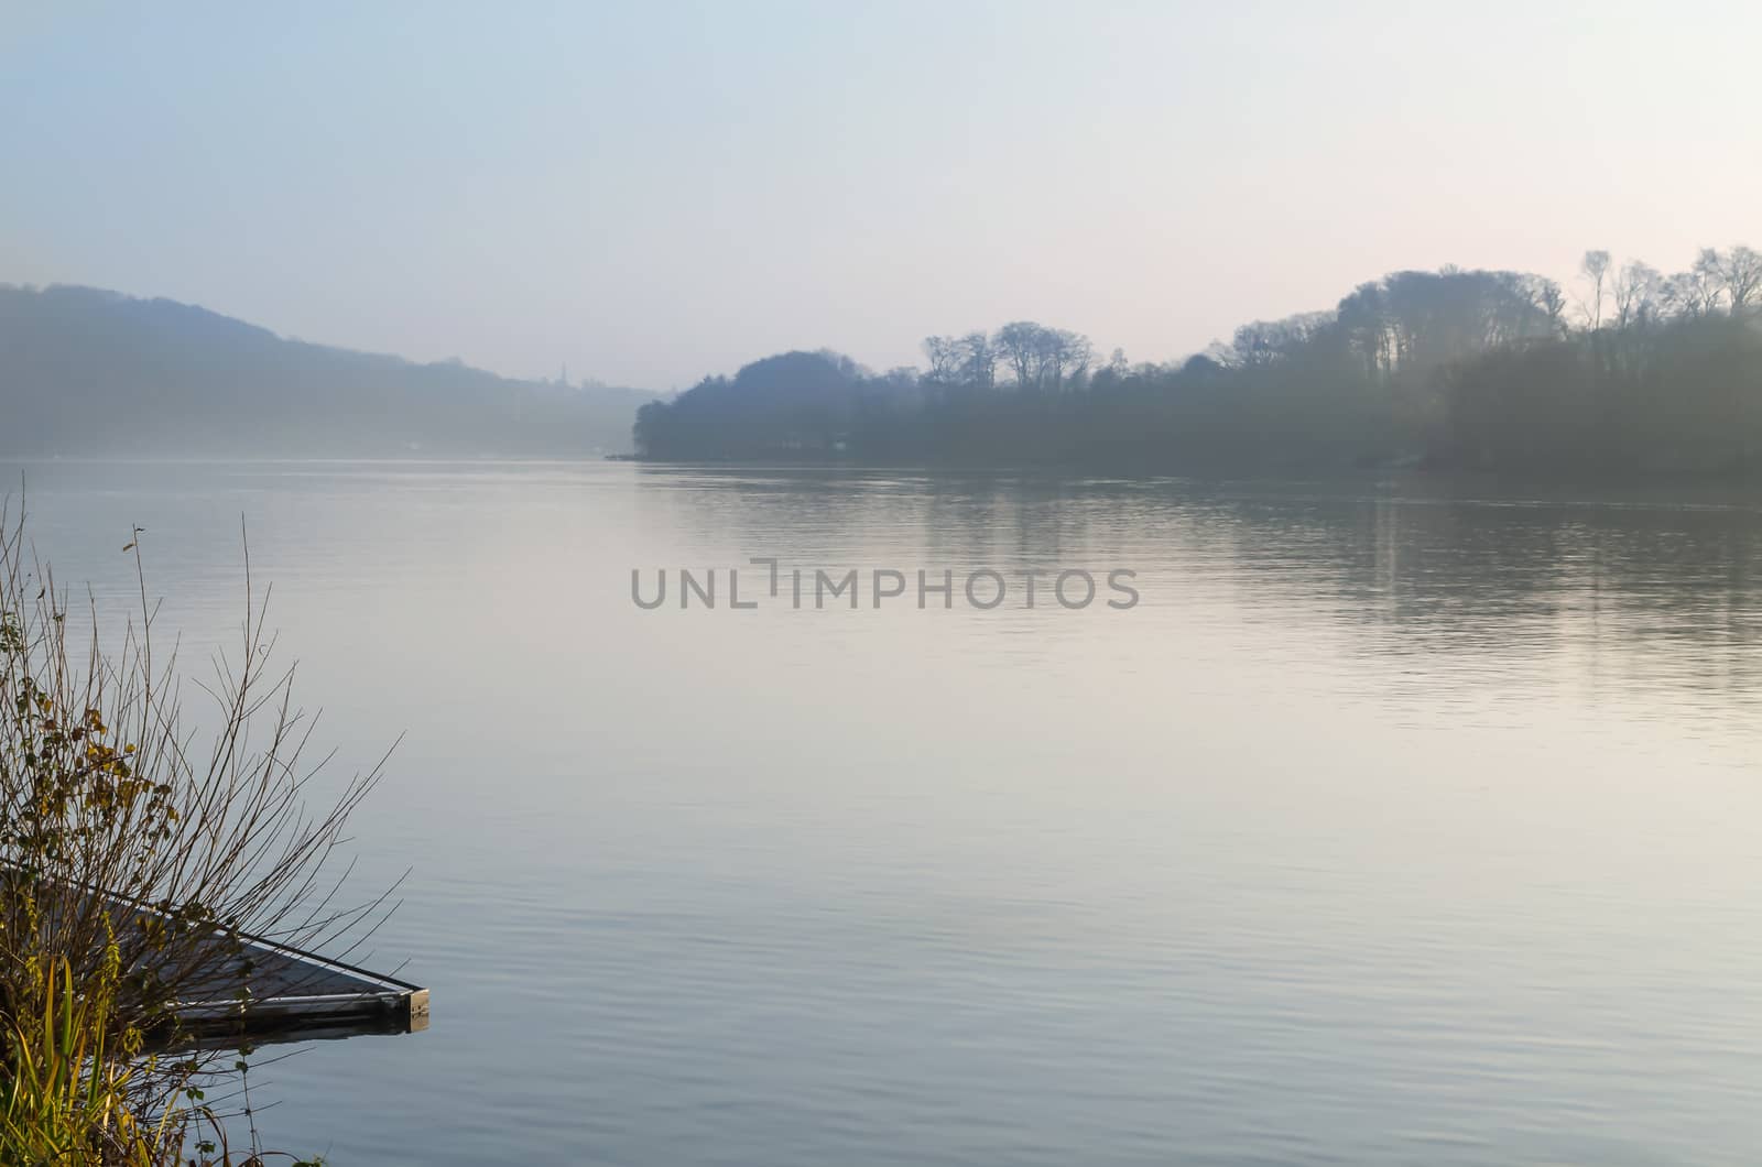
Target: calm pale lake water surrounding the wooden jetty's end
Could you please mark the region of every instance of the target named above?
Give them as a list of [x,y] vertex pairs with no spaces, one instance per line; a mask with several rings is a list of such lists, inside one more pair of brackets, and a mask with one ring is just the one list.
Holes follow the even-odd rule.
[[[240,518],[411,1037],[252,1075],[351,1163],[1751,1163],[1762,506],[1440,483],[30,464],[185,661]],[[668,568],[1142,603],[645,612]],[[749,578],[751,573],[751,578]],[[726,573],[719,580],[726,589]],[[677,584],[677,580],[671,580]],[[1045,587],[1045,584],[1043,584]],[[1107,598],[1103,585],[1103,599]],[[268,1054],[268,1051],[266,1051]],[[266,1061],[266,1056],[264,1056]]]

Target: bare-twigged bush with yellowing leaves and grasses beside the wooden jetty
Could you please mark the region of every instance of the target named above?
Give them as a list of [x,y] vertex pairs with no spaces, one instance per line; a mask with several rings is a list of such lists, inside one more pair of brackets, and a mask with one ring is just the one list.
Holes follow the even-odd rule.
[[342,897],[340,848],[381,769],[315,783],[322,762],[301,762],[312,717],[273,663],[248,557],[240,642],[197,682],[211,703],[196,735],[174,647],[153,629],[141,534],[123,546],[139,608],[118,631],[95,601],[70,603],[5,511],[0,1163],[301,1163],[259,1146],[250,1045],[197,1045],[174,1003],[236,980],[243,1007],[241,936],[338,948],[372,934],[386,896]]

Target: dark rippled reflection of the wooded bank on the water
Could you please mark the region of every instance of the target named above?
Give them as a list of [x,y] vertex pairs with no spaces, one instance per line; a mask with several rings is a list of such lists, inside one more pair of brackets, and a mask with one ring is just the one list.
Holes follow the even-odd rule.
[[[1256,601],[1367,633],[1359,652],[1572,654],[1755,689],[1762,497],[1501,495],[1485,483],[1195,483],[641,467],[643,515],[694,538],[821,555],[916,548],[914,562],[1131,562],[1223,569]],[[1413,492],[1418,488],[1420,492]],[[675,492],[692,504],[678,506]],[[818,562],[818,561],[809,561]],[[846,564],[848,566],[848,564]],[[1614,635],[1610,635],[1614,633]],[[1690,643],[1695,650],[1686,650]]]

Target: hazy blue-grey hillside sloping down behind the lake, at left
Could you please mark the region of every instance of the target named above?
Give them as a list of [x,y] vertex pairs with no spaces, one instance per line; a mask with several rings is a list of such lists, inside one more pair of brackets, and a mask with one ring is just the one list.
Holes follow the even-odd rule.
[[0,286],[0,455],[569,457],[654,395],[333,349],[171,300]]

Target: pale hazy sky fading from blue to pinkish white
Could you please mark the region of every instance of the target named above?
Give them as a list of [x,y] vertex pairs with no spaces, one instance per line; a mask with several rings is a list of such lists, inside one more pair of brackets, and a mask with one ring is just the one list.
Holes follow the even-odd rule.
[[1762,4],[56,7],[0,0],[0,282],[516,375],[1762,247]]

